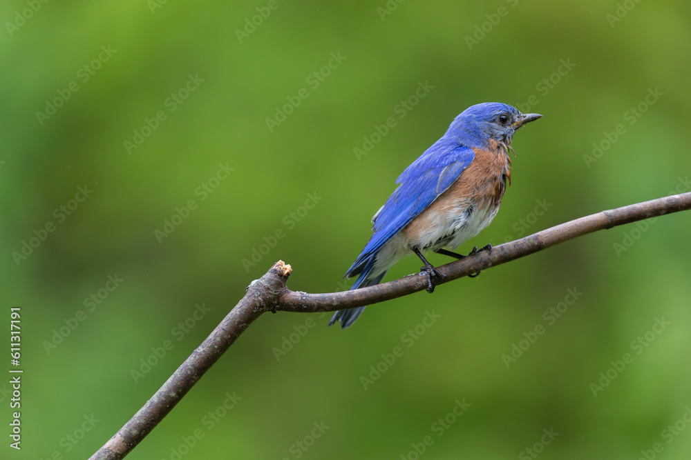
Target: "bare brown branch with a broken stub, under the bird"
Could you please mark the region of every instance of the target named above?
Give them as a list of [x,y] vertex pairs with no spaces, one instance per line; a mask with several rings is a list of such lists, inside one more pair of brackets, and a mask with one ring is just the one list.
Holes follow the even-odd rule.
[[[598,212],[511,241],[511,243],[502,244],[493,248],[491,253],[478,252],[472,257],[439,267],[439,270],[446,274],[446,280],[443,282],[448,283],[448,281],[525,257],[596,230],[605,230],[625,223],[688,209],[691,209],[691,192]],[[194,350],[160,390],[146,401],[144,407],[125,423],[110,441],[93,454],[91,460],[122,459],[135,448],[262,313],[267,311],[314,313],[343,310],[395,299],[427,287],[426,277],[413,274],[368,288],[328,294],[307,294],[294,292],[285,286],[285,281],[291,271],[290,265],[278,261],[261,279],[252,281],[245,297],[211,332],[211,335]]]

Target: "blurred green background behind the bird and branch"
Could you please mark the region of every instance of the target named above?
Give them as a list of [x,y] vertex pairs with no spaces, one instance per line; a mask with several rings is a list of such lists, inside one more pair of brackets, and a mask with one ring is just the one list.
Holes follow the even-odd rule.
[[[23,448],[8,447],[5,383],[0,457],[91,455],[278,259],[293,290],[343,289],[398,174],[475,103],[544,117],[516,135],[504,206],[461,252],[691,190],[688,1],[388,6],[3,3],[0,343],[21,306],[25,373]],[[401,110],[421,82],[431,88]],[[388,117],[395,127],[372,139]],[[363,137],[377,142],[357,157]],[[233,170],[209,181],[219,165]],[[93,192],[70,201],[79,187]],[[690,224],[680,213],[591,234],[372,306],[345,331],[323,314],[265,314],[129,458],[688,459]],[[253,250],[268,253],[252,265]],[[406,259],[387,279],[419,266]],[[109,275],[123,280],[112,291]],[[426,314],[438,316],[428,327]],[[659,334],[656,319],[669,323]],[[538,325],[507,368],[502,355]],[[384,372],[363,385],[370,366]],[[458,418],[456,401],[471,405]]]

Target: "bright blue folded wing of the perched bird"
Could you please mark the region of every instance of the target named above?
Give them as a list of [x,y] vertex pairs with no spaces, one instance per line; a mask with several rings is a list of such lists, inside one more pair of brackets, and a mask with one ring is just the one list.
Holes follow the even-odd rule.
[[364,281],[375,262],[372,256],[449,188],[473,159],[473,149],[442,137],[408,166],[396,180],[398,188],[372,219],[374,234],[345,276],[364,270],[358,282]]

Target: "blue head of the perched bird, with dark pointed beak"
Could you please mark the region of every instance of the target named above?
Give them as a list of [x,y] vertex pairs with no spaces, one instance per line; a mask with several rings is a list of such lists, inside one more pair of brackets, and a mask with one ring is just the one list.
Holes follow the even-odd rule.
[[513,133],[540,117],[537,113],[523,114],[508,104],[485,102],[461,112],[448,127],[446,136],[468,147],[492,150],[501,147],[508,151]]

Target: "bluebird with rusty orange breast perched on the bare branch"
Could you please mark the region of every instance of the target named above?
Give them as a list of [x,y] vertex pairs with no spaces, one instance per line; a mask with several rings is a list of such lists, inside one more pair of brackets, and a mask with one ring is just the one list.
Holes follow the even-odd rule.
[[[498,102],[480,103],[458,115],[446,134],[398,177],[398,188],[372,217],[372,237],[345,273],[358,276],[351,289],[380,283],[389,268],[413,253],[424,263],[421,274],[433,292],[445,276],[423,253],[465,257],[452,250],[491,223],[507,180],[511,185],[513,134],[540,117]],[[488,244],[481,250],[491,249]],[[471,254],[476,252],[477,247]],[[329,326],[340,321],[347,328],[364,309],[339,310]]]

